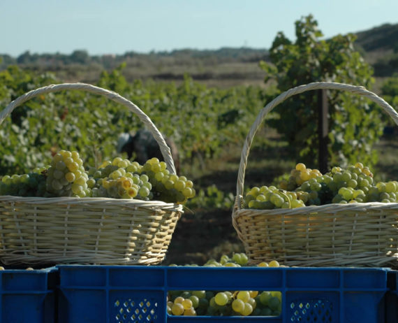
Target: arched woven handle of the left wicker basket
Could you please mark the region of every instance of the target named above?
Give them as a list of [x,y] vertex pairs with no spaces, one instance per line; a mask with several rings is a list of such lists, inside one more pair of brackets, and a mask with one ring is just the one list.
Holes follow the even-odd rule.
[[22,96],[18,97],[14,101],[12,101],[6,108],[0,112],[0,124],[3,122],[3,120],[10,115],[11,112],[17,107],[20,106],[22,103],[28,101],[29,99],[38,96],[40,94],[46,94],[50,92],[57,92],[57,91],[63,91],[66,89],[80,89],[82,91],[94,93],[94,94],[99,94],[102,96],[107,97],[108,99],[115,101],[117,103],[121,103],[123,106],[126,106],[128,109],[133,111],[135,115],[138,115],[140,120],[147,126],[149,131],[151,131],[152,135],[154,136],[156,142],[159,144],[159,147],[161,148],[161,153],[163,155],[163,158],[165,160],[165,163],[167,164],[168,170],[175,174],[175,166],[174,166],[174,161],[172,160],[170,148],[168,145],[165,143],[165,140],[163,136],[161,135],[160,131],[155,127],[154,123],[152,120],[149,119],[149,117],[140,109],[138,106],[136,106],[134,103],[131,101],[128,101],[128,99],[125,99],[123,96],[120,96],[116,92],[112,92],[108,89],[103,89],[101,87],[96,87],[94,85],[89,85],[85,83],[61,83],[61,84],[56,84],[56,85],[48,85],[45,87],[40,87],[38,89],[34,89],[32,91],[29,91]]

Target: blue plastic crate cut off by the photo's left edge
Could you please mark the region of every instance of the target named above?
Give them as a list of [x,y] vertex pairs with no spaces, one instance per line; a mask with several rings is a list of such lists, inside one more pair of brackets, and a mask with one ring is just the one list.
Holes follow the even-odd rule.
[[0,323],[54,323],[57,268],[0,271]]

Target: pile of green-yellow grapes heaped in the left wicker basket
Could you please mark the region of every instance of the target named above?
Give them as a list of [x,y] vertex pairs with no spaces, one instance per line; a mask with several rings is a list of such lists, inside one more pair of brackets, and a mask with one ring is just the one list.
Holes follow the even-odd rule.
[[107,197],[185,203],[195,196],[193,182],[166,169],[164,161],[144,165],[116,157],[101,166],[84,168],[78,152],[61,150],[50,166],[23,175],[4,175],[0,195],[40,197]]

